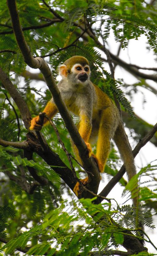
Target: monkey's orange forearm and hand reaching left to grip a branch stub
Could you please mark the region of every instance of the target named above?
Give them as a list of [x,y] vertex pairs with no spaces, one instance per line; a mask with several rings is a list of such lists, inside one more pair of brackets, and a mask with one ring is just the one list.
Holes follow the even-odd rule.
[[[43,112],[45,112],[50,118],[52,118],[57,112],[58,109],[55,105],[54,102],[49,101],[46,105],[46,107],[44,108]],[[40,131],[42,126],[38,124],[39,122],[39,116],[34,117],[31,120],[31,124],[30,124],[30,130],[38,130]],[[44,125],[47,123],[47,119],[44,118]]]

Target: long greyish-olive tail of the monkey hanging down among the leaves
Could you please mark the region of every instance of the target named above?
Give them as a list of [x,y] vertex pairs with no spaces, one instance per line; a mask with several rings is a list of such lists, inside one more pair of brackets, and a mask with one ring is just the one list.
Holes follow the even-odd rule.
[[[128,180],[136,174],[136,167],[134,164],[134,157],[132,153],[132,148],[129,144],[128,137],[125,133],[124,126],[122,122],[119,123],[117,126],[115,135],[114,135],[114,141],[116,143],[116,146],[121,154],[122,160],[124,162],[124,166],[126,168]],[[132,197],[133,197],[133,205],[136,207],[136,211],[139,212],[139,204],[138,204],[138,183],[134,191],[131,191]],[[139,239],[139,241],[144,244],[143,240],[143,224],[142,221],[138,221],[138,227],[140,228],[139,231],[136,232],[137,236],[142,237],[142,239]]]

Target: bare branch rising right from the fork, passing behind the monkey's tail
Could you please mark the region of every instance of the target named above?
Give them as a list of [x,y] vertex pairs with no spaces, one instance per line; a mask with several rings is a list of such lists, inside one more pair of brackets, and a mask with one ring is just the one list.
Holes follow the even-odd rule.
[[[147,143],[149,140],[154,136],[155,132],[157,131],[157,123],[154,125],[154,127],[151,129],[151,131],[143,138],[141,139],[136,147],[133,149],[133,156],[135,156],[139,153],[139,150]],[[106,187],[100,192],[99,195],[101,196],[107,196],[110,191],[113,189],[113,187],[120,181],[120,179],[123,177],[124,173],[126,172],[124,165],[122,165],[121,169],[119,172],[113,177],[109,183],[106,185]],[[96,203],[100,203],[103,199],[102,198],[97,198]]]

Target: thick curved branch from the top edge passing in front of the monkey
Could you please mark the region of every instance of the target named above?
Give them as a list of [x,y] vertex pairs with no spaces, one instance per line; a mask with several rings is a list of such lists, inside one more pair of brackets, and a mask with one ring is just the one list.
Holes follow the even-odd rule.
[[[88,150],[87,150],[86,144],[84,143],[84,140],[81,138],[81,136],[76,128],[76,125],[74,125],[73,119],[72,119],[71,115],[69,114],[65,103],[62,101],[60,92],[59,92],[58,87],[55,83],[55,80],[52,76],[49,66],[42,58],[40,58],[40,57],[33,58],[33,56],[30,54],[30,49],[24,39],[24,35],[23,35],[22,29],[20,26],[19,16],[18,16],[18,12],[16,9],[15,0],[14,1],[8,0],[7,3],[8,3],[8,8],[9,8],[9,12],[10,12],[11,20],[12,20],[12,26],[13,26],[13,30],[15,33],[16,41],[17,41],[19,49],[24,57],[24,61],[32,68],[39,68],[41,70],[41,72],[43,73],[46,84],[53,96],[54,102],[55,102],[64,122],[65,122],[65,125],[69,131],[69,134],[70,134],[74,144],[78,148],[78,152],[82,159],[83,166],[84,166],[85,170],[89,171],[87,173],[88,173],[90,182],[87,184],[87,188],[89,190],[91,190],[91,188],[92,188],[94,190],[93,192],[97,193],[98,186],[100,183],[100,173],[98,171],[97,165],[92,158],[87,157]],[[84,194],[86,194],[86,193],[87,192],[84,191]]]

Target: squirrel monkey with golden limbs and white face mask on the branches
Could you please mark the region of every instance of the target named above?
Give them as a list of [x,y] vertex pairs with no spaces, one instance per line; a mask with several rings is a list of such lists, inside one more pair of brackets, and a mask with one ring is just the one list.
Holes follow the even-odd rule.
[[[132,149],[128,143],[118,109],[112,100],[90,81],[89,62],[82,56],[73,56],[59,66],[62,80],[58,83],[62,99],[69,111],[79,116],[77,125],[81,137],[84,139],[89,157],[92,154],[90,144],[96,143],[95,157],[100,172],[104,171],[107,157],[110,152],[110,140],[114,139],[122,160],[124,162],[128,179],[136,174]],[[53,117],[58,109],[53,98],[43,110],[49,117]],[[30,130],[41,130],[38,124],[39,116],[31,120]],[[46,119],[44,119],[46,123]],[[81,163],[78,150],[72,143],[74,153]],[[88,178],[81,180],[85,185]],[[73,191],[79,192],[79,183],[76,183]]]

